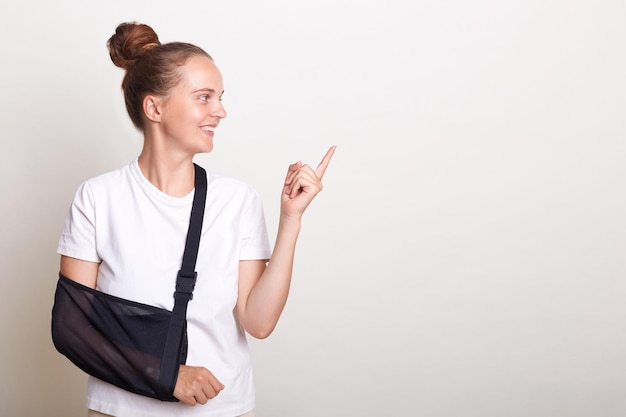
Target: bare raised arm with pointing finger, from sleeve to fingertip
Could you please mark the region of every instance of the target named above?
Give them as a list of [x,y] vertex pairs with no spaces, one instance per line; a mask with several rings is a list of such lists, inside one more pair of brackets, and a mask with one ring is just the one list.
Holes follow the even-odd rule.
[[322,190],[322,177],[334,152],[335,146],[332,146],[315,169],[302,162],[289,166],[281,193],[280,220],[272,257],[267,265],[264,261],[239,263],[236,312],[244,329],[256,338],[272,333],[285,307],[302,214]]

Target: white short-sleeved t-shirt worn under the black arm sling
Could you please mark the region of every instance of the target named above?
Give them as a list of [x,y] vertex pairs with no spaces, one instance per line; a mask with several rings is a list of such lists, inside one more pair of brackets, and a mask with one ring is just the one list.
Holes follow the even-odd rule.
[[[117,417],[228,417],[254,408],[248,345],[234,308],[239,261],[271,255],[263,208],[245,183],[207,176],[198,278],[187,309],[187,364],[209,369],[224,390],[206,405],[190,407],[90,377],[88,408]],[[100,262],[100,291],[171,310],[193,195],[162,193],[142,175],[135,159],[78,188],[57,252]]]

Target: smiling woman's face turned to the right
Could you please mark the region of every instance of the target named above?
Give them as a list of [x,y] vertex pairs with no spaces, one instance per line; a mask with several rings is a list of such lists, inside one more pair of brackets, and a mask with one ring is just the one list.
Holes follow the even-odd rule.
[[224,86],[215,63],[194,56],[181,67],[181,80],[161,106],[160,128],[168,150],[184,154],[211,152],[213,136],[226,117]]

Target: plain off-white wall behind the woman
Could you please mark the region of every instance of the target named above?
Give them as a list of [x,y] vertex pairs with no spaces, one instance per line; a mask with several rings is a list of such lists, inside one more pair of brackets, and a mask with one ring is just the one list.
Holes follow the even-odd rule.
[[251,183],[338,150],[259,417],[626,415],[622,0],[0,0],[0,415],[84,416],[53,348],[76,187],[141,147],[106,40],[196,43],[229,116],[197,161]]

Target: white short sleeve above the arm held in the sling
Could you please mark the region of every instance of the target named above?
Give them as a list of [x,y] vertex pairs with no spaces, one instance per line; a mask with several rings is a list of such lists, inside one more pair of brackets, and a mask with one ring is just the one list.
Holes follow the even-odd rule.
[[57,253],[84,261],[100,262],[96,247],[96,212],[93,192],[83,183],[65,218]]

